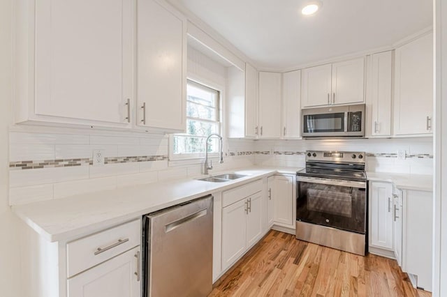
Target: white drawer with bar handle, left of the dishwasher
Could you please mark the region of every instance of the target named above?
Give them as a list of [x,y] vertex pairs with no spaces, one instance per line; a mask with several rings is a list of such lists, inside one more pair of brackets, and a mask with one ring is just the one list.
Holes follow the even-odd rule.
[[140,245],[140,220],[67,243],[67,277]]

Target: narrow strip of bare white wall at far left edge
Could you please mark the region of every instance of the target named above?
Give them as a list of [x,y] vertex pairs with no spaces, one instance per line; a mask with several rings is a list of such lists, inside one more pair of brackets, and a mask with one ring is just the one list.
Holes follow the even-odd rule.
[[12,114],[11,5],[0,1],[0,295],[20,296],[17,218],[8,207],[8,125]]

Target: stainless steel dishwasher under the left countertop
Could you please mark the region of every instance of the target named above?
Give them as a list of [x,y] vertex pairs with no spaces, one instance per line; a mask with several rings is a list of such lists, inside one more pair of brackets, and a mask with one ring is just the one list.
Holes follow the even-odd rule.
[[143,217],[143,296],[207,296],[212,290],[212,196]]

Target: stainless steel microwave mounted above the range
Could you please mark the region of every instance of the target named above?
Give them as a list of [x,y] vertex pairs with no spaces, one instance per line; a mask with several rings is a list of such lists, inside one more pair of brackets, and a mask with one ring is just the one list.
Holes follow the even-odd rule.
[[365,137],[365,104],[302,109],[302,137]]

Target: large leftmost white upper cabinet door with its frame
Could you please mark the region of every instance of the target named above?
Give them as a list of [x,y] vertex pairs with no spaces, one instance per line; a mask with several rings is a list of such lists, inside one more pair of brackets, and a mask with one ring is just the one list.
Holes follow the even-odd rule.
[[15,20],[15,123],[131,127],[133,0],[18,1]]

